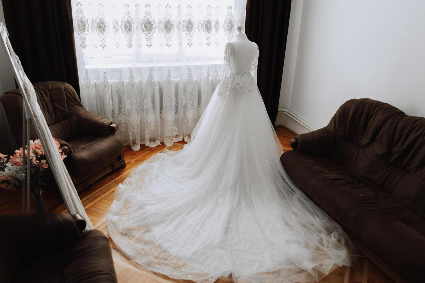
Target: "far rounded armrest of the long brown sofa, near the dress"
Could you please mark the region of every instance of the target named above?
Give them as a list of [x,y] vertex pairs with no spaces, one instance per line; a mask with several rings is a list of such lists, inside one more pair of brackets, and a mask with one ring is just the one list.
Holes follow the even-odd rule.
[[335,136],[326,127],[313,132],[299,134],[289,141],[297,152],[317,157],[329,157],[334,146]]

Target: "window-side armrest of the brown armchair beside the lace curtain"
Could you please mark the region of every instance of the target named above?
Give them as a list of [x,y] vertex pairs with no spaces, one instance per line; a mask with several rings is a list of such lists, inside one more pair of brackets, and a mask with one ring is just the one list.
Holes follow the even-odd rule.
[[97,137],[114,134],[118,130],[116,123],[88,111],[79,115],[78,126],[85,134]]

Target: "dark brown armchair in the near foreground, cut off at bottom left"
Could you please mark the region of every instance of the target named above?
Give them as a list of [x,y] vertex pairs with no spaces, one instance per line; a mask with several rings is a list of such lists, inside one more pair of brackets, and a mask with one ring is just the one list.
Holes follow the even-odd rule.
[[0,216],[0,282],[116,283],[111,245],[78,214]]

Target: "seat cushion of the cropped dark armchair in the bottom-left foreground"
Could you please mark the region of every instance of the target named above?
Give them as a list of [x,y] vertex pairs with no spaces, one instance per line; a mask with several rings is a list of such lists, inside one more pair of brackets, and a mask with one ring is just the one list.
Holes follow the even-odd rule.
[[108,238],[99,230],[82,236],[77,244],[24,266],[14,282],[117,282]]

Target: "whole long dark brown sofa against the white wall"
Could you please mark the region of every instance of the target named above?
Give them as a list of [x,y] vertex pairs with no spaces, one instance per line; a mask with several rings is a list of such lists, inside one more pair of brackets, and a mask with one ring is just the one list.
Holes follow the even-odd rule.
[[292,181],[393,280],[424,282],[425,118],[352,99],[290,144]]

